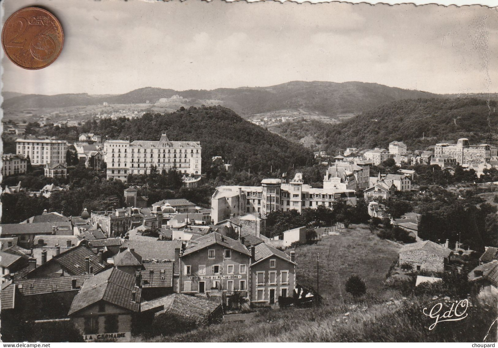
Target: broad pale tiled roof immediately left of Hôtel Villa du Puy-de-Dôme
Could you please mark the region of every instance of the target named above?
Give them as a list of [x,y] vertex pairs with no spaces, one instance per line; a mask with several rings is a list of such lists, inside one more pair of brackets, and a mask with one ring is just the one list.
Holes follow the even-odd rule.
[[175,273],[178,273],[178,260],[175,259],[175,248],[182,247],[181,240],[124,240],[122,247],[133,248],[142,256],[142,260],[171,260],[175,261]]

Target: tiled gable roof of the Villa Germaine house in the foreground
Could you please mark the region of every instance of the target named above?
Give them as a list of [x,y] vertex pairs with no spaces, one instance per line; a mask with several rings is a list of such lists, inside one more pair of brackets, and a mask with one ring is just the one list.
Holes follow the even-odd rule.
[[[132,292],[135,291],[135,301]],[[135,286],[135,277],[117,268],[108,269],[88,278],[74,297],[69,314],[74,314],[98,301],[106,301],[133,312],[140,308],[141,289]]]

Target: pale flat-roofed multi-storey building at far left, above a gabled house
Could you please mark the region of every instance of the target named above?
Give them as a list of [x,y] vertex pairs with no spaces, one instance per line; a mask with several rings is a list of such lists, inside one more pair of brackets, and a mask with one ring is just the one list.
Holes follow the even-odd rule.
[[32,165],[45,165],[46,163],[66,164],[68,143],[64,140],[54,139],[17,139],[16,154],[29,156]]

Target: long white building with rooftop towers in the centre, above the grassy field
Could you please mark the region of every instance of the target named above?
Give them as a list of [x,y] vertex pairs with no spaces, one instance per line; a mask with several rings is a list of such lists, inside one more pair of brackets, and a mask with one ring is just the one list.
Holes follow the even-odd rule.
[[274,211],[316,209],[320,205],[332,207],[335,201],[356,205],[355,190],[350,190],[335,178],[325,178],[324,188],[313,188],[304,184],[301,173],[293,179],[282,182],[280,179],[263,179],[261,186],[220,186],[211,198],[213,224],[233,216],[261,213],[261,216]]

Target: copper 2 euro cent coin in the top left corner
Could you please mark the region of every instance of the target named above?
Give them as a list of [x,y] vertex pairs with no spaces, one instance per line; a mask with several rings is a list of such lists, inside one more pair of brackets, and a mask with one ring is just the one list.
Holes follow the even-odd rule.
[[15,65],[30,70],[42,69],[61,53],[64,33],[52,13],[39,7],[26,7],[5,21],[1,43],[5,55]]

